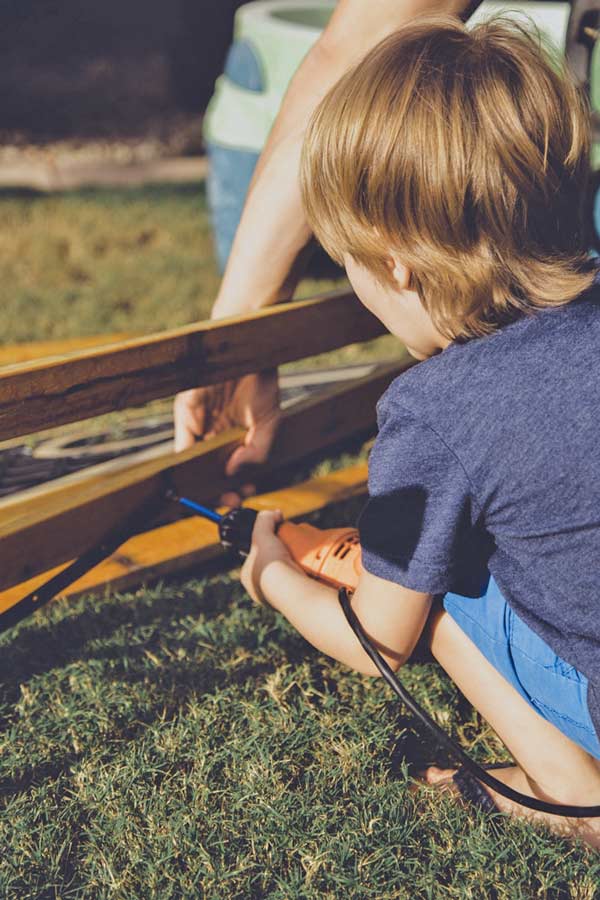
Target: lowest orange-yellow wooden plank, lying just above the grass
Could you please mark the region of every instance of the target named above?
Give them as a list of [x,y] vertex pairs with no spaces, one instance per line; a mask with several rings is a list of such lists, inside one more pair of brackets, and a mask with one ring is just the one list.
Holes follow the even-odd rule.
[[[291,488],[260,494],[245,505],[252,509],[281,509],[286,519],[294,519],[363,495],[366,490],[367,464],[360,463]],[[105,562],[66,588],[61,596],[98,594],[108,589],[130,590],[157,578],[198,567],[222,554],[217,529],[211,522],[199,517],[182,519],[131,538]],[[57,566],[50,572],[3,591],[0,594],[0,615],[37,590],[62,568]]]

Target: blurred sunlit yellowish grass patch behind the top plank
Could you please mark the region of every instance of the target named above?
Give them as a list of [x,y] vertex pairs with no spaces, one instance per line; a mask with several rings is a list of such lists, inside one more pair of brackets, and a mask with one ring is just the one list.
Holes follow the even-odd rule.
[[198,186],[4,197],[10,341],[147,332],[204,317],[218,284]]

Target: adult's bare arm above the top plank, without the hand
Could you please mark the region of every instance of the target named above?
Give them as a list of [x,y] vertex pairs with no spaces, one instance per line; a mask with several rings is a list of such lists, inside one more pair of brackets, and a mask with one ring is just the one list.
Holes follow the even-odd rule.
[[292,79],[250,184],[214,305],[223,317],[289,299],[311,238],[298,179],[304,132],[327,91],[380,40],[414,16],[460,12],[457,0],[340,0]]

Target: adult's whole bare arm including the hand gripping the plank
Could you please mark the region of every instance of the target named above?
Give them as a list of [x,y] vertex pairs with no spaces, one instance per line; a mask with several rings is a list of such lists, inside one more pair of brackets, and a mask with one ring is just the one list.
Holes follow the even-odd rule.
[[[414,16],[459,14],[464,0],[340,0],[294,75],[250,184],[231,255],[212,311],[223,318],[289,299],[311,240],[299,184],[299,161],[310,116],[330,87],[388,34]],[[268,361],[265,360],[268,364]],[[175,402],[175,447],[233,423],[248,429],[227,472],[267,457],[279,419],[276,373],[246,376],[226,390],[194,389]]]

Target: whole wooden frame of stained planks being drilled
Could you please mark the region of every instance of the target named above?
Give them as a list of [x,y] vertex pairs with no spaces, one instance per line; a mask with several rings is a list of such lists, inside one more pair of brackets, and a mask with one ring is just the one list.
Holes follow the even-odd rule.
[[[24,434],[139,406],[383,333],[381,323],[354,294],[338,291],[149,337],[111,335],[102,346],[88,345],[88,339],[46,345],[46,351],[58,352],[45,359],[35,358],[43,347],[26,347],[24,352],[17,348],[16,358],[24,361],[0,369],[0,441],[14,444]],[[15,359],[14,350],[10,353],[5,359]],[[373,434],[377,400],[412,363],[405,354],[396,363],[375,365],[361,377],[352,376],[285,408],[268,464],[244,472],[244,481],[264,480],[350,437]],[[163,496],[166,508],[168,488],[215,502],[239,484],[225,478],[224,465],[243,437],[241,429],[234,429],[179,454],[161,445],[0,500],[0,614],[16,610],[21,599],[74,558],[87,551],[96,554],[92,548],[131,521],[137,509],[152,509],[155,515]],[[288,515],[299,515],[364,492],[365,480],[363,465],[256,497],[250,505],[277,504]],[[164,524],[163,517],[162,524],[139,522],[138,531],[64,593],[108,585],[129,588],[219,553],[213,526],[197,519]],[[116,543],[112,538],[113,547]],[[27,603],[22,606],[26,608]]]

